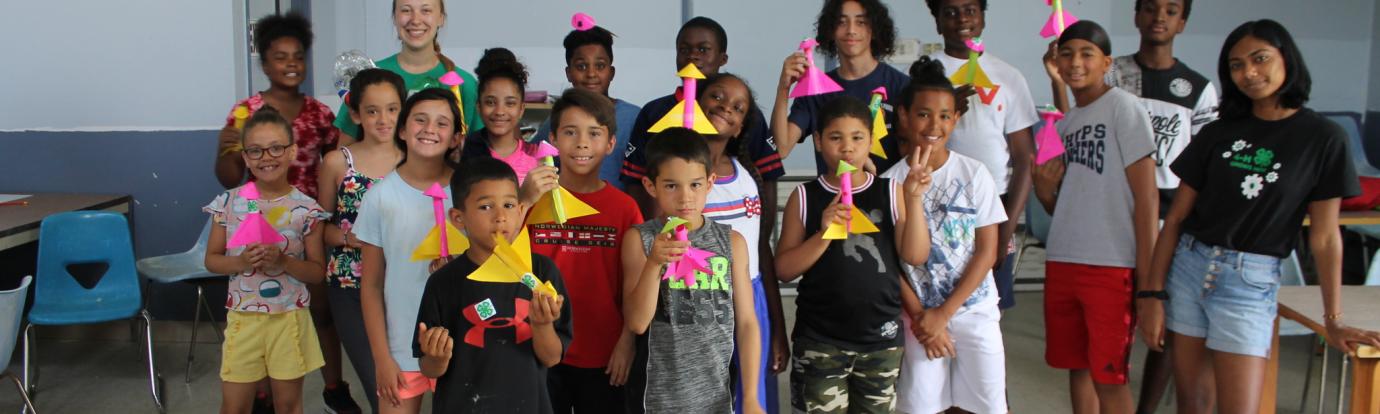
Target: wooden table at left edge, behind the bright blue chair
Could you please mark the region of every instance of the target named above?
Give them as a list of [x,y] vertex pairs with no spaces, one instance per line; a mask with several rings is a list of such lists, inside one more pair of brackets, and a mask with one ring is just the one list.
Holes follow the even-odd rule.
[[28,203],[0,206],[0,251],[39,240],[39,224],[44,217],[76,210],[128,214],[134,199],[127,195],[37,193],[21,201]]

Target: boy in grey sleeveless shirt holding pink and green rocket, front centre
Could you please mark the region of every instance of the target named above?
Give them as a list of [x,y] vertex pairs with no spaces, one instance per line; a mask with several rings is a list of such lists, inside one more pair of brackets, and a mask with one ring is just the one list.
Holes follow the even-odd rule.
[[[647,148],[647,167],[642,185],[661,211],[686,221],[689,241],[661,232],[668,218],[624,235],[624,317],[639,335],[628,411],[727,413],[733,410],[734,339],[742,351],[738,378],[758,378],[760,367],[760,335],[747,294],[752,291],[748,243],[727,225],[705,219],[705,196],[715,177],[700,134],[679,127],[657,134]],[[711,254],[712,275],[696,270],[693,286],[664,280],[665,266],[691,247]],[[759,381],[742,382],[745,410],[762,413]]]

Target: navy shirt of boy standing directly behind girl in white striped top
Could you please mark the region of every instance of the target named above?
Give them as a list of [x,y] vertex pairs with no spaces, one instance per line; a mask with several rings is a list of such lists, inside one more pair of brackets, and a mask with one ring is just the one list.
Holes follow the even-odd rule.
[[[647,130],[661,120],[667,112],[671,112],[678,102],[680,101],[676,99],[676,95],[671,94],[642,105],[638,121],[632,124],[632,139],[628,141],[628,152],[622,160],[624,181],[636,184],[642,181],[643,175],[647,175],[646,148],[647,139],[651,139],[651,132],[647,132]],[[748,156],[756,164],[762,181],[776,181],[781,175],[785,175],[785,168],[781,166],[781,153],[777,152],[776,141],[771,141],[771,127],[767,126],[762,110],[756,112],[748,128],[748,137],[752,137],[745,142]]]

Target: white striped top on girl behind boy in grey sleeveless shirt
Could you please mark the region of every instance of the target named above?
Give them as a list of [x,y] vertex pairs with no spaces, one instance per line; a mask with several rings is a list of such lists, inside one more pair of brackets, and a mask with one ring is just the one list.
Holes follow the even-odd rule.
[[722,177],[709,189],[705,199],[704,217],[718,224],[726,224],[748,241],[748,275],[762,277],[758,265],[758,240],[762,233],[762,197],[758,184],[738,160],[733,160],[733,175]]

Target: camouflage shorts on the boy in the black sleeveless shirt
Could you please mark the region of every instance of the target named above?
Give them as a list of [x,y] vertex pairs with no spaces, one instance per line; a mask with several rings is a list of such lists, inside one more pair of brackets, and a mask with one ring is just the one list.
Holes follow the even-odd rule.
[[796,338],[791,406],[796,413],[891,413],[901,346],[853,352]]

